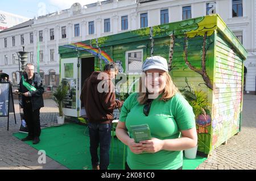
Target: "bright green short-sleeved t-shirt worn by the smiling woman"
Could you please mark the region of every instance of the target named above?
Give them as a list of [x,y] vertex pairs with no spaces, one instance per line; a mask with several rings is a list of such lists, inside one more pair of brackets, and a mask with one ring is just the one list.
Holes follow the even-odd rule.
[[[144,106],[138,103],[137,97],[138,93],[133,93],[125,100],[119,116],[129,132],[131,125],[148,124],[152,137],[166,140],[179,138],[180,131],[196,126],[192,107],[181,94],[167,102],[159,100],[160,96],[154,99],[148,116],[144,115]],[[128,147],[127,164],[130,169],[178,169],[183,165],[183,151],[134,154]]]

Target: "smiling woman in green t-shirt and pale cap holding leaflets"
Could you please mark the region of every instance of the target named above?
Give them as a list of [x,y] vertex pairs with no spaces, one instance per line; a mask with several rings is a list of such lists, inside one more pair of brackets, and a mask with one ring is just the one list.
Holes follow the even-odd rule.
[[[181,169],[182,150],[197,145],[192,107],[172,82],[165,58],[147,58],[142,70],[140,92],[125,100],[116,128],[118,139],[128,146],[127,169]],[[143,124],[151,139],[137,143],[131,127]]]

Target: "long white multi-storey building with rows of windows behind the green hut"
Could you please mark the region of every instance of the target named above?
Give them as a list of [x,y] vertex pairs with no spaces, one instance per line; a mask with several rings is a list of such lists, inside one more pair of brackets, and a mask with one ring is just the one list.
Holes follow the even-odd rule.
[[245,93],[255,94],[256,2],[254,0],[108,0],[41,16],[0,32],[0,71],[16,82],[16,52],[25,47],[36,65],[40,44],[40,73],[46,85],[56,85],[58,47],[142,27],[220,14],[248,51],[245,61]]

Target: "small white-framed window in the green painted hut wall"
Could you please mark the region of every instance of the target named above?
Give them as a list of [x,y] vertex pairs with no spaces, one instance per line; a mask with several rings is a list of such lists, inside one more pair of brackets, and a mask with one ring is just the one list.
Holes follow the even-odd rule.
[[131,50],[126,52],[127,72],[141,72],[143,50]]

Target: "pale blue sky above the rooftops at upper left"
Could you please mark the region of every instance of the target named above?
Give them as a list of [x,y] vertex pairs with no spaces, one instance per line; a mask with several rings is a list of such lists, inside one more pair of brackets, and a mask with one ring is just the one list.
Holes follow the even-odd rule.
[[1,0],[0,10],[26,18],[34,18],[36,15],[69,9],[75,2],[83,6],[97,2],[97,0]]

